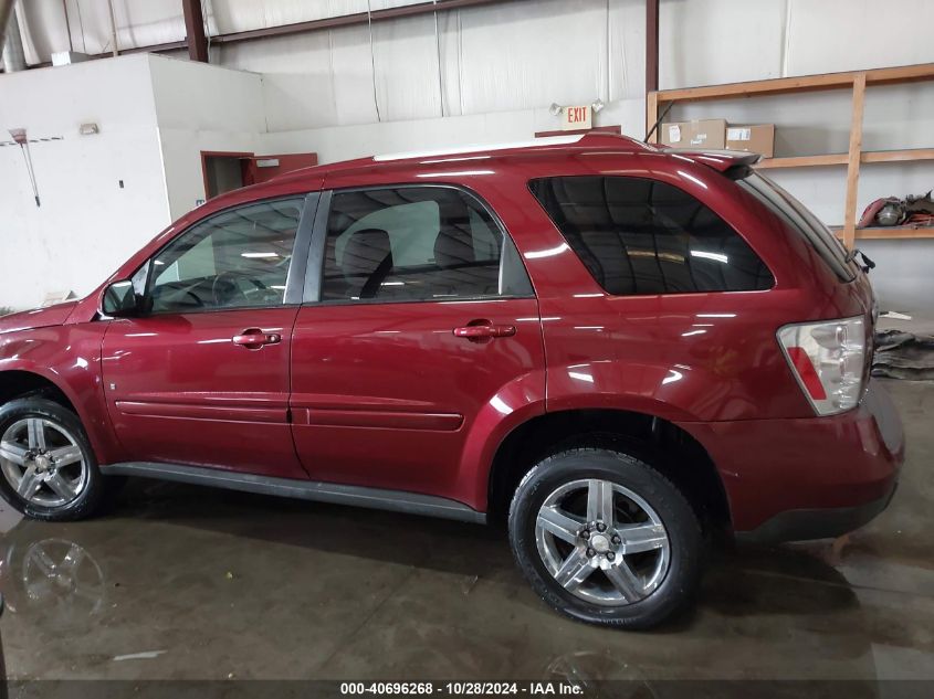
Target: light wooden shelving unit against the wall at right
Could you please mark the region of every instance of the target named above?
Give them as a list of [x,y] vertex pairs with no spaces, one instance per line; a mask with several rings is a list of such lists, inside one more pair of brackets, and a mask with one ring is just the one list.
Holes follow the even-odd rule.
[[[727,83],[704,87],[685,87],[650,92],[646,99],[648,127],[658,120],[659,114],[670,103],[709,102],[736,97],[764,95],[784,95],[826,89],[849,89],[852,92],[852,112],[850,123],[850,144],[847,152],[796,156],[793,158],[770,158],[758,163],[762,169],[777,168],[823,168],[847,166],[847,201],[844,223],[838,235],[847,247],[852,248],[857,239],[922,239],[934,237],[932,227],[879,227],[857,230],[857,194],[859,192],[860,166],[880,162],[913,162],[934,160],[934,148],[911,148],[904,150],[862,150],[862,116],[867,87],[873,85],[896,85],[934,80],[934,63],[903,65],[872,71],[851,71],[847,73],[827,73],[823,75],[804,75],[800,77],[779,77],[748,83]],[[650,139],[657,142],[657,137]]]

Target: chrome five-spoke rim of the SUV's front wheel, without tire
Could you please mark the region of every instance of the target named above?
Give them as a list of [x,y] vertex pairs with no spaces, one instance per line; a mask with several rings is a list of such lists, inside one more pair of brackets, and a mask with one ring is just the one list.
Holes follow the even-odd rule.
[[0,437],[0,470],[27,502],[61,507],[87,486],[88,468],[74,435],[43,417],[11,424]]

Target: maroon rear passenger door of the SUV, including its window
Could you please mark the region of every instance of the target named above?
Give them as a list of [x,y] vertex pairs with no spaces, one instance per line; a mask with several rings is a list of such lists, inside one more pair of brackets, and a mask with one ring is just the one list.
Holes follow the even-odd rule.
[[325,213],[293,339],[302,464],[315,480],[459,499],[476,422],[508,414],[510,391],[544,395],[538,304],[518,253],[453,187],[336,191]]

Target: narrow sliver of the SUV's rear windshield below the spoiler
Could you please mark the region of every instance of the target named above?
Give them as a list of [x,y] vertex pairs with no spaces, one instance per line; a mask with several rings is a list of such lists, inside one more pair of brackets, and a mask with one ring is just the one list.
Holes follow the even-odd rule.
[[842,282],[850,282],[856,277],[847,258],[847,248],[801,202],[767,177],[752,170],[737,183],[810,243]]

